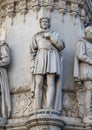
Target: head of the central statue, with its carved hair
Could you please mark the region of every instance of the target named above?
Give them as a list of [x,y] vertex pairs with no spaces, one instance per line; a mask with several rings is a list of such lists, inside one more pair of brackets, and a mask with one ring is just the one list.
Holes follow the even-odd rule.
[[40,27],[42,29],[48,29],[50,28],[50,18],[43,17],[40,19]]

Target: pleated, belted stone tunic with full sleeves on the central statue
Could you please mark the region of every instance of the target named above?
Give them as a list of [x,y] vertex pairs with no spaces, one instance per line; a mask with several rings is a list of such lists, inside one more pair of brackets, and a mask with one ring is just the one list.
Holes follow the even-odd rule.
[[50,40],[43,37],[43,32],[34,35],[31,43],[31,67],[34,66],[34,74],[56,73],[60,75],[61,56],[64,48],[63,39],[53,31]]

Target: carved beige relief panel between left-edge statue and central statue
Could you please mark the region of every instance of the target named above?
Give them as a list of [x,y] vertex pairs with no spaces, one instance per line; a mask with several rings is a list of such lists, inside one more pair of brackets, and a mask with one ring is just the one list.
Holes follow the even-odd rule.
[[29,116],[33,111],[33,98],[32,93],[23,92],[12,94],[12,118],[21,118],[25,116]]

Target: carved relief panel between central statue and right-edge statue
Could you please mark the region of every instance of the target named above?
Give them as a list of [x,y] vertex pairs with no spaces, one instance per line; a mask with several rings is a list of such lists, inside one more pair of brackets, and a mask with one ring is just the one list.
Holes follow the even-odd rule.
[[76,93],[63,92],[62,116],[63,117],[79,117]]

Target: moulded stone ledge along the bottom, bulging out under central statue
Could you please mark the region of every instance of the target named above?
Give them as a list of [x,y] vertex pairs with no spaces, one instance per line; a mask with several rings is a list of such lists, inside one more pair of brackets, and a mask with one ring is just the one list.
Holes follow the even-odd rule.
[[[39,112],[40,114],[38,114]],[[48,112],[45,111],[45,113]],[[61,117],[58,114],[50,114],[49,116],[37,111],[31,113],[30,117],[9,119],[5,130],[92,130],[91,124],[82,123],[78,118]]]

